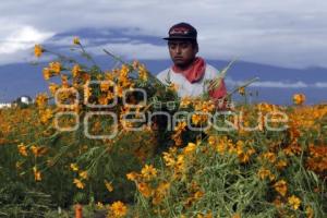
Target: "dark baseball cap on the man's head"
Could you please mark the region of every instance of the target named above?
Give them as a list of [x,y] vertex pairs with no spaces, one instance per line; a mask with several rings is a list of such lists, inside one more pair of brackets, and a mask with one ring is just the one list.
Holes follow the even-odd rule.
[[197,37],[196,29],[187,23],[178,23],[170,27],[168,32],[168,37],[164,38],[165,40],[173,39],[195,39]]

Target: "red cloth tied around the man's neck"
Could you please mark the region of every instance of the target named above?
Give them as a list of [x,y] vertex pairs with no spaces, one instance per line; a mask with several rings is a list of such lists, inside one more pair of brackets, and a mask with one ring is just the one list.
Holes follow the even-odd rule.
[[190,83],[196,83],[197,81],[201,81],[205,74],[206,62],[203,58],[196,57],[193,63],[186,70],[183,71],[179,66],[173,65],[172,71],[182,73]]

